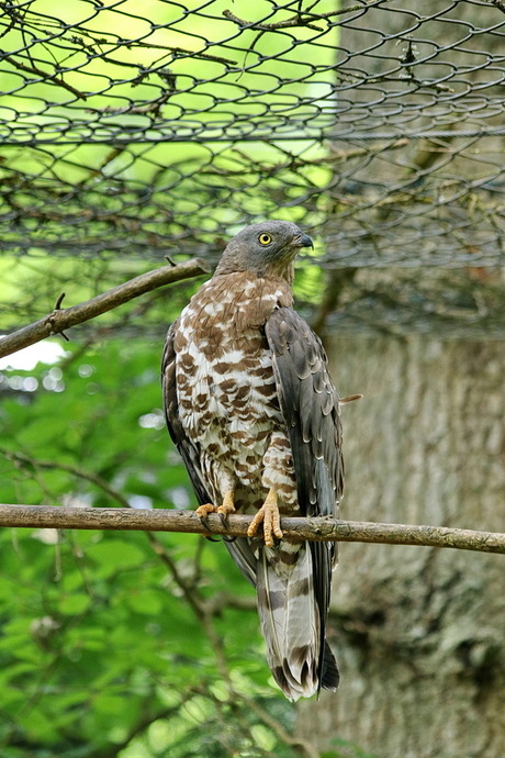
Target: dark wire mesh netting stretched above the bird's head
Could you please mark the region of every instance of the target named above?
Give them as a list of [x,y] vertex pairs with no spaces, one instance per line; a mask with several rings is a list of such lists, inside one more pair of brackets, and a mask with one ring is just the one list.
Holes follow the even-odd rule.
[[503,265],[501,0],[0,9],[12,256],[214,260],[281,218],[329,269]]

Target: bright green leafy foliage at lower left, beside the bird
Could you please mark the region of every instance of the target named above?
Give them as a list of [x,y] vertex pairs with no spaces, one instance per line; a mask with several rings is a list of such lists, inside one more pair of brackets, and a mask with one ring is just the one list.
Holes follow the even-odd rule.
[[[192,505],[164,427],[159,352],[108,342],[56,367],[5,372],[38,388],[10,392],[1,406],[1,501]],[[290,727],[251,588],[223,545],[155,539],[156,549],[144,533],[0,533],[2,757],[293,755],[242,700]],[[225,601],[202,623],[183,582],[198,602],[249,595],[251,607]]]

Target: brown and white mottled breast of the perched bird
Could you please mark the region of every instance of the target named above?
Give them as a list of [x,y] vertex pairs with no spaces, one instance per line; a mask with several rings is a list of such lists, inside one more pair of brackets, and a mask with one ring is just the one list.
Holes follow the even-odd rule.
[[[261,280],[212,279],[181,314],[176,335],[179,413],[187,434],[216,457],[265,454],[282,423],[271,353],[262,330],[284,299]],[[257,464],[257,460],[256,460]]]

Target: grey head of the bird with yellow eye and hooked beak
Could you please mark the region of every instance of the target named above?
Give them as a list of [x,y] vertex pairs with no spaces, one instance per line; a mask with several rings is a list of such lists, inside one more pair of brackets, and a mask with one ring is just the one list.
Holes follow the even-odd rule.
[[314,247],[311,237],[291,221],[265,221],[246,226],[229,242],[216,276],[252,271],[258,277],[283,277],[290,283],[301,247]]

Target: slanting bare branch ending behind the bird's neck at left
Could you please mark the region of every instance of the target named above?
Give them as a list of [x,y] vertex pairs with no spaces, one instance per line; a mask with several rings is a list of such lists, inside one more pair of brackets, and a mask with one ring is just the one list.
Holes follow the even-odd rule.
[[194,258],[183,264],[164,266],[154,271],[141,274],[141,276],[125,281],[108,292],[103,292],[91,300],[86,300],[71,308],[59,308],[64,297],[61,296],[52,313],[0,338],[0,358],[21,350],[23,347],[29,347],[29,345],[34,345],[36,342],[41,342],[41,339],[60,334],[65,330],[70,328],[70,326],[94,319],[106,311],[112,311],[117,305],[123,305],[128,300],[138,298],[141,294],[145,294],[158,287],[171,285],[182,279],[190,279],[200,274],[209,274],[209,271],[210,268],[204,260]]

